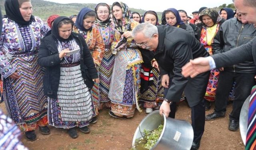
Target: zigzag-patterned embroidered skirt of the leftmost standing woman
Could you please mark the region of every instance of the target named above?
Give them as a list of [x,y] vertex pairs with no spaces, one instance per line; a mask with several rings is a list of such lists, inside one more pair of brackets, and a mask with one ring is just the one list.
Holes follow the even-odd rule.
[[15,124],[33,124],[47,115],[43,92],[44,70],[38,65],[37,52],[9,55],[10,64],[20,78],[4,78],[3,100]]

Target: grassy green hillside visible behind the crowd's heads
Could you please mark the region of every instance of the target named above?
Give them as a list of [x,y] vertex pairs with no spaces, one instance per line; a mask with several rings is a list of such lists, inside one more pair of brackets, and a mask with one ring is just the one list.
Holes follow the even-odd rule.
[[[59,4],[55,2],[48,2],[43,0],[32,0],[32,6],[33,6],[33,15],[39,16],[42,19],[47,19],[48,16],[52,14],[59,14],[60,16],[71,16],[73,14],[78,14],[78,12],[84,8],[88,7],[94,10],[96,4],[79,4],[79,3],[71,3],[71,4]],[[234,4],[223,4],[219,7],[214,7],[216,10],[220,10],[224,7],[230,7],[233,10]],[[2,13],[5,14],[4,10],[4,0],[0,0],[0,8],[2,10]],[[140,14],[144,14],[146,10],[142,9],[134,9],[130,8],[131,12],[139,12]],[[162,12],[157,12],[159,22],[161,21]]]

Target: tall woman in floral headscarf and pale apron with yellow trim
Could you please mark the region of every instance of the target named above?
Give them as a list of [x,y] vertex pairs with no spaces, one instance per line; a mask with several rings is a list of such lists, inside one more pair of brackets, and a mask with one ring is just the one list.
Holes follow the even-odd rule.
[[122,34],[122,38],[113,50],[116,58],[108,94],[111,100],[109,114],[126,119],[134,116],[135,108],[142,112],[138,106],[138,93],[143,61],[131,33],[139,23],[131,21],[130,9],[122,2],[112,4],[112,13],[115,28]]

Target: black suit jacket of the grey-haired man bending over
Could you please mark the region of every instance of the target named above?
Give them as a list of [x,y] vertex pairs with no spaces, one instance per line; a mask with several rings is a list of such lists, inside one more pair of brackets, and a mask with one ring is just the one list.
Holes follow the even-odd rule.
[[203,98],[209,72],[196,78],[184,78],[181,68],[190,59],[209,56],[205,48],[191,34],[172,26],[157,26],[158,47],[154,58],[160,66],[161,74],[169,74],[172,78],[166,99],[178,102],[185,92],[190,107],[197,105]]

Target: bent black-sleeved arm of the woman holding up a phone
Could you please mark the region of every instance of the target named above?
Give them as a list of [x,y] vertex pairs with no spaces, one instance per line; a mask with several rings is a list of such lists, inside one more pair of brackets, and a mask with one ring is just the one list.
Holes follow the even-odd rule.
[[[38,64],[44,67],[52,67],[60,64],[59,53],[51,55],[49,50],[51,46],[46,44],[45,38],[42,40],[38,50]],[[56,47],[57,48],[57,47]],[[58,52],[58,50],[56,50]]]

